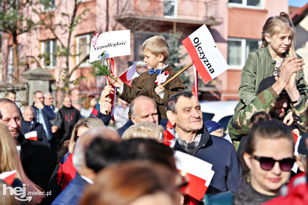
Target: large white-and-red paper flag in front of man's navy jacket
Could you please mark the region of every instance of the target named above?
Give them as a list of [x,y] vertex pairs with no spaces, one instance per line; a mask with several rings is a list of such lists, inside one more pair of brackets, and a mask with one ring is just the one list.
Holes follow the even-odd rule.
[[174,152],[174,158],[179,173],[188,179],[185,193],[200,201],[213,178],[213,165],[179,151]]

